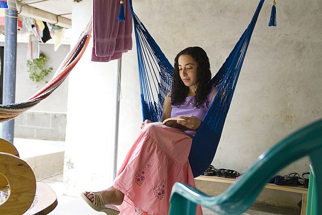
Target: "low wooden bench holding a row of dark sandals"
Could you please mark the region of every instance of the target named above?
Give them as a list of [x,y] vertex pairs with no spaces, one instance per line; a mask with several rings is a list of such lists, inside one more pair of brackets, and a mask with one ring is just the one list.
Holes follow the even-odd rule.
[[[212,182],[228,183],[228,184],[232,184],[236,181],[235,178],[224,178],[224,177],[204,176],[204,175],[196,177],[195,180],[212,181]],[[293,187],[293,186],[280,186],[280,185],[276,185],[276,184],[266,184],[264,188],[283,190],[283,191],[287,191],[287,192],[302,193],[301,215],[306,214],[307,188]]]

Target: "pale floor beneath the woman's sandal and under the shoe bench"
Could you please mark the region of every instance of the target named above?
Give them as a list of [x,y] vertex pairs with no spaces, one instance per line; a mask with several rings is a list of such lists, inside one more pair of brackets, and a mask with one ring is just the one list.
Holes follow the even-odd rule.
[[[63,195],[62,191],[62,175],[46,178],[42,182],[48,183],[57,194],[58,205],[50,213],[51,215],[85,215],[85,214],[105,214],[97,212],[88,206],[81,197],[71,197]],[[208,208],[203,208],[204,215],[215,215],[216,213]],[[244,215],[297,215],[299,210],[277,208],[267,205],[252,206]]]

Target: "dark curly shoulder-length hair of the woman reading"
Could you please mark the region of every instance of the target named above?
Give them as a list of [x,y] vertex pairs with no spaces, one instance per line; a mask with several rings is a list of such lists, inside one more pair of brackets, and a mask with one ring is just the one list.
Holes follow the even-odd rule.
[[212,87],[212,84],[210,82],[211,71],[209,58],[206,52],[202,48],[197,46],[188,47],[177,54],[175,58],[175,71],[171,88],[171,104],[178,106],[185,102],[185,99],[189,92],[189,87],[184,84],[179,74],[178,58],[181,55],[190,55],[198,63],[196,83],[197,90],[193,106],[199,109],[204,106],[204,103],[206,102],[207,96]]

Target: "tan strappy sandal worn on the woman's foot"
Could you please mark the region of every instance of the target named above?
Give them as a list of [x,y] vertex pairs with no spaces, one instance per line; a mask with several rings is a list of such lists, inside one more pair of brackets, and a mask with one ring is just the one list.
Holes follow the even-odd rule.
[[81,193],[82,198],[96,211],[105,212],[107,215],[117,215],[120,210],[111,204],[104,204],[102,192],[92,192],[94,195],[94,202],[91,201],[83,192]]

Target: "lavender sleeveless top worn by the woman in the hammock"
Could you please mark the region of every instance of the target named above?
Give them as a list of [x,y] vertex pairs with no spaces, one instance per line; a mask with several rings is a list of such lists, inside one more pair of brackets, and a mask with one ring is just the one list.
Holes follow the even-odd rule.
[[[195,101],[195,96],[187,96],[185,102],[183,104],[181,104],[180,106],[171,105],[171,107],[172,107],[171,117],[195,116],[196,118],[198,118],[199,120],[202,121],[209,109],[212,95],[216,90],[217,90],[217,88],[212,87],[211,91],[208,94],[207,100],[201,109],[196,109],[196,107],[192,106],[192,104]],[[192,135],[192,136],[194,136],[196,134],[196,132],[194,132],[194,131],[185,131],[185,132],[189,135]]]

